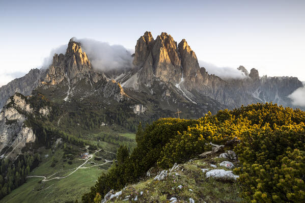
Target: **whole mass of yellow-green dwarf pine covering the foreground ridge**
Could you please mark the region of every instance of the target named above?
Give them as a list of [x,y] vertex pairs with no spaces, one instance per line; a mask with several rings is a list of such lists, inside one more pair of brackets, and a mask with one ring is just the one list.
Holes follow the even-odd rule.
[[[241,196],[252,202],[305,201],[305,112],[276,104],[253,104],[208,113],[199,120],[159,119],[143,131],[138,127],[137,147],[121,164],[100,176],[83,202],[93,202],[110,189],[136,182],[158,165],[168,168],[210,149],[206,143],[226,144],[234,137],[241,167]],[[229,147],[233,149],[233,147]]]

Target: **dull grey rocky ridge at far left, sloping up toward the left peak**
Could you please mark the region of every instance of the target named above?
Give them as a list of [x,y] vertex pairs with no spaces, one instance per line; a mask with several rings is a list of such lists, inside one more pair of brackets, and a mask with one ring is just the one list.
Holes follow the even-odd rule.
[[46,71],[32,69],[21,78],[17,78],[0,88],[0,109],[5,105],[8,98],[15,92],[22,95],[31,95],[32,91],[43,81]]

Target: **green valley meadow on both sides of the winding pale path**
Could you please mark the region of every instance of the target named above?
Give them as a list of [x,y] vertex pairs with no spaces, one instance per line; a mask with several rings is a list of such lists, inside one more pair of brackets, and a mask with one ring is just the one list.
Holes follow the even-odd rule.
[[[45,177],[65,177],[74,171],[79,165],[85,162],[78,157],[78,152],[83,152],[84,148],[79,149],[73,146],[73,150],[77,151],[74,154],[74,159],[69,160],[63,158],[63,144],[54,149],[40,148],[38,153],[41,155],[42,162],[31,171],[29,176],[45,176]],[[49,155],[45,157],[45,155]],[[83,167],[93,166],[90,168],[79,168],[70,176],[64,179],[54,179],[42,182],[43,178],[28,178],[26,183],[14,189],[9,195],[5,196],[0,202],[65,202],[68,200],[81,200],[81,195],[87,192],[88,189],[95,184],[97,178],[112,165],[112,162],[102,166],[94,166],[105,163],[105,159],[113,160],[115,155],[107,152],[98,152],[94,156],[101,158],[95,160],[90,159]],[[51,167],[52,157],[57,160],[54,167]],[[64,161],[66,160],[66,161]],[[72,161],[72,164],[68,164]],[[91,164],[90,162],[94,162]],[[54,173],[56,173],[54,175]],[[53,176],[52,176],[53,175]]]

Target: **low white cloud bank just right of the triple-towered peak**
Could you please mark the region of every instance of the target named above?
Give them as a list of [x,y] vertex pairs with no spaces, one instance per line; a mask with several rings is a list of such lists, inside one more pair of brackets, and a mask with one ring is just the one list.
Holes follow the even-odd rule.
[[204,67],[208,74],[215,74],[220,78],[245,78],[246,76],[237,68],[218,67],[204,61],[198,61],[200,67]]

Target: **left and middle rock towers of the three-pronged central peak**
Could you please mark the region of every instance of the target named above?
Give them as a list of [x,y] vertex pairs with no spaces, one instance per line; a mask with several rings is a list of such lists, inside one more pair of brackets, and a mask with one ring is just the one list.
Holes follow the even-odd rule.
[[156,40],[150,32],[140,37],[135,46],[133,64],[141,69],[141,81],[156,76],[163,81],[178,83],[182,77],[177,42],[167,33],[161,33]]

